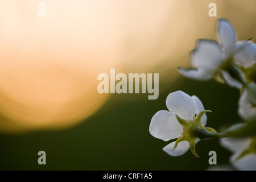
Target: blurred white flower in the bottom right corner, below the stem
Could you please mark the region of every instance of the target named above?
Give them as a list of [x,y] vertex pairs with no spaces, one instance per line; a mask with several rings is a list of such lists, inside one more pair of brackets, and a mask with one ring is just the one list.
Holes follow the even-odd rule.
[[221,138],[220,143],[233,153],[229,162],[234,168],[241,171],[256,170],[255,138]]

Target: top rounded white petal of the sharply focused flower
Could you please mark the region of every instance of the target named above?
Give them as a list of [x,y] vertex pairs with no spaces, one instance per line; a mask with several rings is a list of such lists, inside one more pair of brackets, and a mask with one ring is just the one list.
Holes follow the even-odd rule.
[[192,98],[180,90],[168,95],[166,105],[171,113],[178,115],[182,119],[193,119],[196,114],[196,107]]

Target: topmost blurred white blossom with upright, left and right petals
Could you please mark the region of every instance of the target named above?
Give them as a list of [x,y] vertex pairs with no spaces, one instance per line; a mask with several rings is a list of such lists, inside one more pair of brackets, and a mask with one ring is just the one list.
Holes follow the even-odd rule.
[[183,76],[195,80],[209,80],[218,69],[225,69],[231,65],[233,59],[245,68],[255,63],[255,44],[249,40],[237,42],[236,31],[228,20],[218,20],[216,36],[218,42],[207,39],[200,39],[197,42],[196,48],[190,54],[193,68],[179,68]]

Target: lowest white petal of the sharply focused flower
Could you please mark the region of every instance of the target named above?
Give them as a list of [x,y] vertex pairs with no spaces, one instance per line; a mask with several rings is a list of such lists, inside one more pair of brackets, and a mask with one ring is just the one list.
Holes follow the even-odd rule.
[[175,145],[175,142],[168,144],[163,148],[163,151],[171,156],[180,156],[185,154],[185,152],[187,152],[189,149],[189,144],[187,141],[182,141],[178,143],[175,150],[174,150],[174,145]]

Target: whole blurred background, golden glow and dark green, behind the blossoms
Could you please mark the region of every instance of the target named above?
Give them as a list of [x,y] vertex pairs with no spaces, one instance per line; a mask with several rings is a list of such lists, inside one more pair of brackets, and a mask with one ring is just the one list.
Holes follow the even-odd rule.
[[[39,17],[39,3],[46,16]],[[217,17],[210,17],[209,3]],[[214,39],[226,18],[238,39],[256,37],[254,0],[0,1],[1,170],[204,170],[209,151],[217,164],[230,152],[202,140],[196,158],[168,156],[170,142],[152,137],[152,116],[167,110],[169,93],[195,94],[207,126],[240,121],[238,90],[182,77],[197,39]],[[100,73],[159,73],[159,98],[99,94]],[[46,152],[47,165],[38,164]]]

